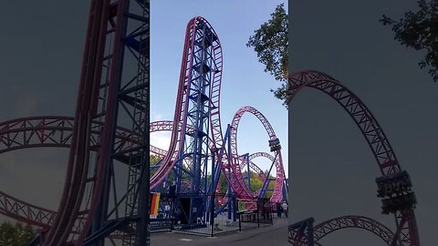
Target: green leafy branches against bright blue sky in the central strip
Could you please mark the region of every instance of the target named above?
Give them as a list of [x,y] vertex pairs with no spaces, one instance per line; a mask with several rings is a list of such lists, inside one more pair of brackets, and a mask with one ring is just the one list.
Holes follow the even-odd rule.
[[255,30],[255,35],[249,37],[246,44],[254,47],[258,61],[265,65],[265,72],[273,75],[281,85],[275,90],[274,96],[287,105],[287,14],[284,4],[276,6],[271,19]]

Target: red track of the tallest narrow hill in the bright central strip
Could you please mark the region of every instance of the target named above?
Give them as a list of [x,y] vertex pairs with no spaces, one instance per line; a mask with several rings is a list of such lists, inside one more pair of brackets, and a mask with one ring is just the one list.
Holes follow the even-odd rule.
[[[173,116],[173,130],[171,143],[168,150],[168,154],[163,158],[162,165],[151,177],[151,189],[156,187],[164,177],[166,177],[173,168],[173,159],[176,158],[179,151],[183,151],[183,136],[185,135],[187,126],[186,116],[187,108],[186,102],[188,101],[188,81],[191,75],[191,67],[193,63],[193,34],[196,31],[196,24],[198,22],[204,22],[213,32],[213,27],[205,20],[203,17],[194,17],[186,28],[185,42],[183,48],[183,61],[181,67],[181,74],[179,80],[178,93],[176,98],[176,107]],[[214,35],[215,32],[214,32]],[[217,36],[217,35],[216,35]],[[223,149],[223,154],[217,159],[218,164],[221,169],[226,172],[227,168],[230,168],[230,163],[228,163],[228,158],[226,154],[226,149],[224,149],[224,139],[222,134],[221,120],[220,120],[220,91],[222,82],[222,72],[223,72],[223,53],[222,47],[219,39],[214,41],[214,76],[212,81],[212,89],[210,91],[210,128],[212,132],[212,143],[214,149]],[[231,165],[232,166],[232,165]],[[240,173],[240,178],[242,174]],[[232,189],[236,194],[240,195],[245,199],[253,199],[253,196],[249,190],[245,187],[245,182],[243,179],[232,179],[231,181]]]

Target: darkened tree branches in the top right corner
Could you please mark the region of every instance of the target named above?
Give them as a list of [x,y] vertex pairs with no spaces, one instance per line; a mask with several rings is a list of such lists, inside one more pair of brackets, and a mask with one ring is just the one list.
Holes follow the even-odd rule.
[[419,10],[408,11],[399,20],[383,15],[381,23],[391,26],[394,39],[401,45],[423,50],[426,55],[419,63],[429,69],[433,81],[438,81],[438,0],[418,0]]

